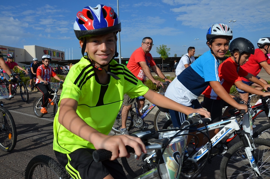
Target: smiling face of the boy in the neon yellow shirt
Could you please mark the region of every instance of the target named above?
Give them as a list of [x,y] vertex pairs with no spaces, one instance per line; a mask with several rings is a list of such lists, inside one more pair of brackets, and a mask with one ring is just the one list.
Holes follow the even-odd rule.
[[[107,65],[113,58],[116,47],[116,39],[114,33],[99,35],[87,38],[85,52],[94,65]],[[80,41],[82,47],[83,41]]]

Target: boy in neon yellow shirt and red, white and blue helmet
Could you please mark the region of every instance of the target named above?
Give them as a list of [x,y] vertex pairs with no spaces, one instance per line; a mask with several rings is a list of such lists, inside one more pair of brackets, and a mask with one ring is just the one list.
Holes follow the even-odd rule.
[[[70,68],[63,84],[53,125],[53,149],[59,163],[74,179],[126,178],[116,160],[130,156],[125,146],[133,147],[138,156],[142,151],[146,153],[139,138],[108,136],[124,94],[131,98],[144,96],[161,107],[187,114],[199,112],[208,116],[207,111],[187,108],[149,90],[125,65],[113,60],[118,56],[116,34],[121,31],[120,20],[113,8],[87,6],[77,13],[73,28],[83,57]],[[92,152],[95,149],[110,150],[111,159],[94,162]]]

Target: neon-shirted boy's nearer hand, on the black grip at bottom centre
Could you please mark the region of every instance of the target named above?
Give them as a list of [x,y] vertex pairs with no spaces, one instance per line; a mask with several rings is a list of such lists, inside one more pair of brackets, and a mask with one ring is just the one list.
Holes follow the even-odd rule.
[[112,152],[110,160],[115,160],[119,157],[130,157],[130,153],[127,152],[126,146],[134,148],[136,155],[139,157],[142,152],[147,153],[146,147],[140,138],[130,135],[98,135],[92,143],[96,149],[106,149]]

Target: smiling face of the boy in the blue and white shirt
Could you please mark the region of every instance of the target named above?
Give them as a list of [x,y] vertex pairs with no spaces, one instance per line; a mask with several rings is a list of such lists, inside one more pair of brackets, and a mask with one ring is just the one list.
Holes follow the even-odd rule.
[[229,50],[229,41],[225,37],[218,37],[214,39],[214,42],[210,44],[215,56],[222,58]]

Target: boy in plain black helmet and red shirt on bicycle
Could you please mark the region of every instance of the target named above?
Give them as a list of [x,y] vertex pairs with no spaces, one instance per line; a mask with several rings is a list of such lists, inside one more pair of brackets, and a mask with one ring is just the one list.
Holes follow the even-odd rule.
[[[220,83],[226,90],[226,93],[229,93],[232,85],[234,84],[238,86],[239,89],[247,93],[252,93],[260,96],[270,96],[270,92],[263,93],[258,89],[244,84],[241,80],[241,77],[244,77],[247,80],[258,84],[259,86],[262,86],[264,89],[270,87],[270,85],[263,83],[255,76],[241,68],[241,66],[248,61],[250,54],[254,54],[254,45],[249,40],[239,37],[235,38],[231,42],[229,51],[231,53],[231,57],[226,59],[218,68]],[[202,94],[204,95],[203,102],[205,108],[211,113],[212,121],[220,121],[222,118],[222,108],[224,106],[231,105],[231,103],[227,104],[225,100],[221,99],[220,96],[213,91],[211,86],[208,86]],[[232,109],[232,107],[227,107],[223,116],[228,115],[227,111],[229,109]],[[214,137],[214,135],[218,132],[219,129],[209,131],[210,138]]]

